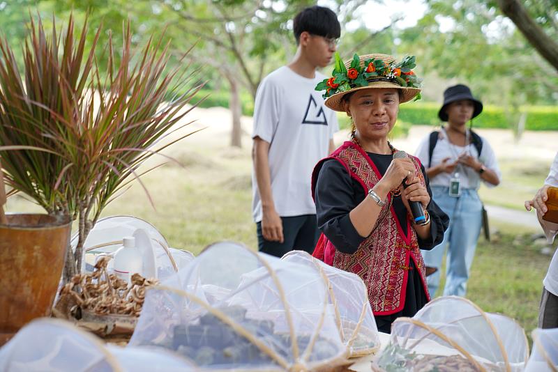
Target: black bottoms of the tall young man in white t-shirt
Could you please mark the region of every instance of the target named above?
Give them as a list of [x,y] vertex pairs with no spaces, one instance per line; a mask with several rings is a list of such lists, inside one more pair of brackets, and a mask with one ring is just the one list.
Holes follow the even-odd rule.
[[257,222],[258,250],[276,257],[282,257],[293,249],[312,254],[319,238],[316,215],[281,217],[281,220],[285,238],[282,243],[265,240],[262,235],[262,222]]

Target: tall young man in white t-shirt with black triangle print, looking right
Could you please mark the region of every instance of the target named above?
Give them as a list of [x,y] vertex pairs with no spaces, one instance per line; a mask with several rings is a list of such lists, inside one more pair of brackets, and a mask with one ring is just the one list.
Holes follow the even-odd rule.
[[326,77],[340,24],[333,11],[312,6],[293,21],[298,45],[291,63],[259,85],[252,139],[252,215],[258,248],[273,256],[292,249],[312,253],[319,236],[310,193],[315,164],[333,149],[338,131],[335,112],[315,86]]

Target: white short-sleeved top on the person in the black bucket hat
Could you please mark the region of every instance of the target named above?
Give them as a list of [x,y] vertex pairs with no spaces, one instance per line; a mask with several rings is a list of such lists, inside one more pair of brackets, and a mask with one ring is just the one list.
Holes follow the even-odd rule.
[[[468,132],[468,131],[467,131]],[[470,135],[470,134],[468,134]],[[430,166],[435,166],[442,163],[446,157],[450,158],[450,162],[455,162],[458,157],[462,153],[469,153],[473,157],[476,157],[478,161],[484,164],[487,169],[494,171],[498,179],[502,179],[502,173],[498,167],[498,162],[496,160],[496,155],[490,147],[488,141],[486,141],[483,137],[481,137],[483,141],[483,149],[479,156],[478,151],[474,144],[470,143],[467,146],[455,146],[450,141],[448,141],[448,137],[446,131],[444,129],[439,131],[438,141],[436,146],[434,147],[434,151],[432,152],[432,163]],[[428,147],[430,146],[430,134],[426,136],[422,141],[421,144],[418,145],[416,149],[416,157],[421,160],[425,169],[428,169],[430,166],[428,164]],[[460,164],[459,166],[455,167],[455,171],[459,173],[459,180],[461,187],[464,189],[478,189],[481,186],[481,175],[474,171],[474,169],[470,168],[469,166],[465,166]],[[453,177],[453,173],[438,173],[436,176],[430,178],[430,186],[445,186],[448,187],[451,178]],[[483,180],[485,185],[488,187],[494,187],[491,183],[488,183]]]

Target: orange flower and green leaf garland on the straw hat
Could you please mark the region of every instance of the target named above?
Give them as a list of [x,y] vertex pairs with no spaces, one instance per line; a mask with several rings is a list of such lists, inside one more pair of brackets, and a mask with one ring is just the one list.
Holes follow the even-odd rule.
[[[329,98],[337,93],[369,86],[370,82],[393,82],[406,88],[420,88],[421,79],[412,70],[415,67],[414,56],[407,56],[400,62],[386,63],[374,58],[361,61],[359,54],[354,54],[347,68],[339,54],[335,53],[333,76],[319,82],[315,90],[325,91],[322,96]],[[420,94],[416,95],[415,100],[420,100],[420,97]]]

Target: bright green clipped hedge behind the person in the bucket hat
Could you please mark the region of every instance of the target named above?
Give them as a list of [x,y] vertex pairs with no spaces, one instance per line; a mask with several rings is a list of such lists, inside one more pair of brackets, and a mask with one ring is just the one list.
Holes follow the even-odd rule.
[[[437,125],[440,123],[436,103],[407,103],[402,104],[399,118],[414,125]],[[525,130],[558,130],[558,107],[525,106],[520,111],[527,112]],[[509,119],[509,117],[512,119]],[[480,128],[510,128],[519,120],[519,115],[509,115],[502,107],[485,106],[483,113],[474,118],[474,127]]]

